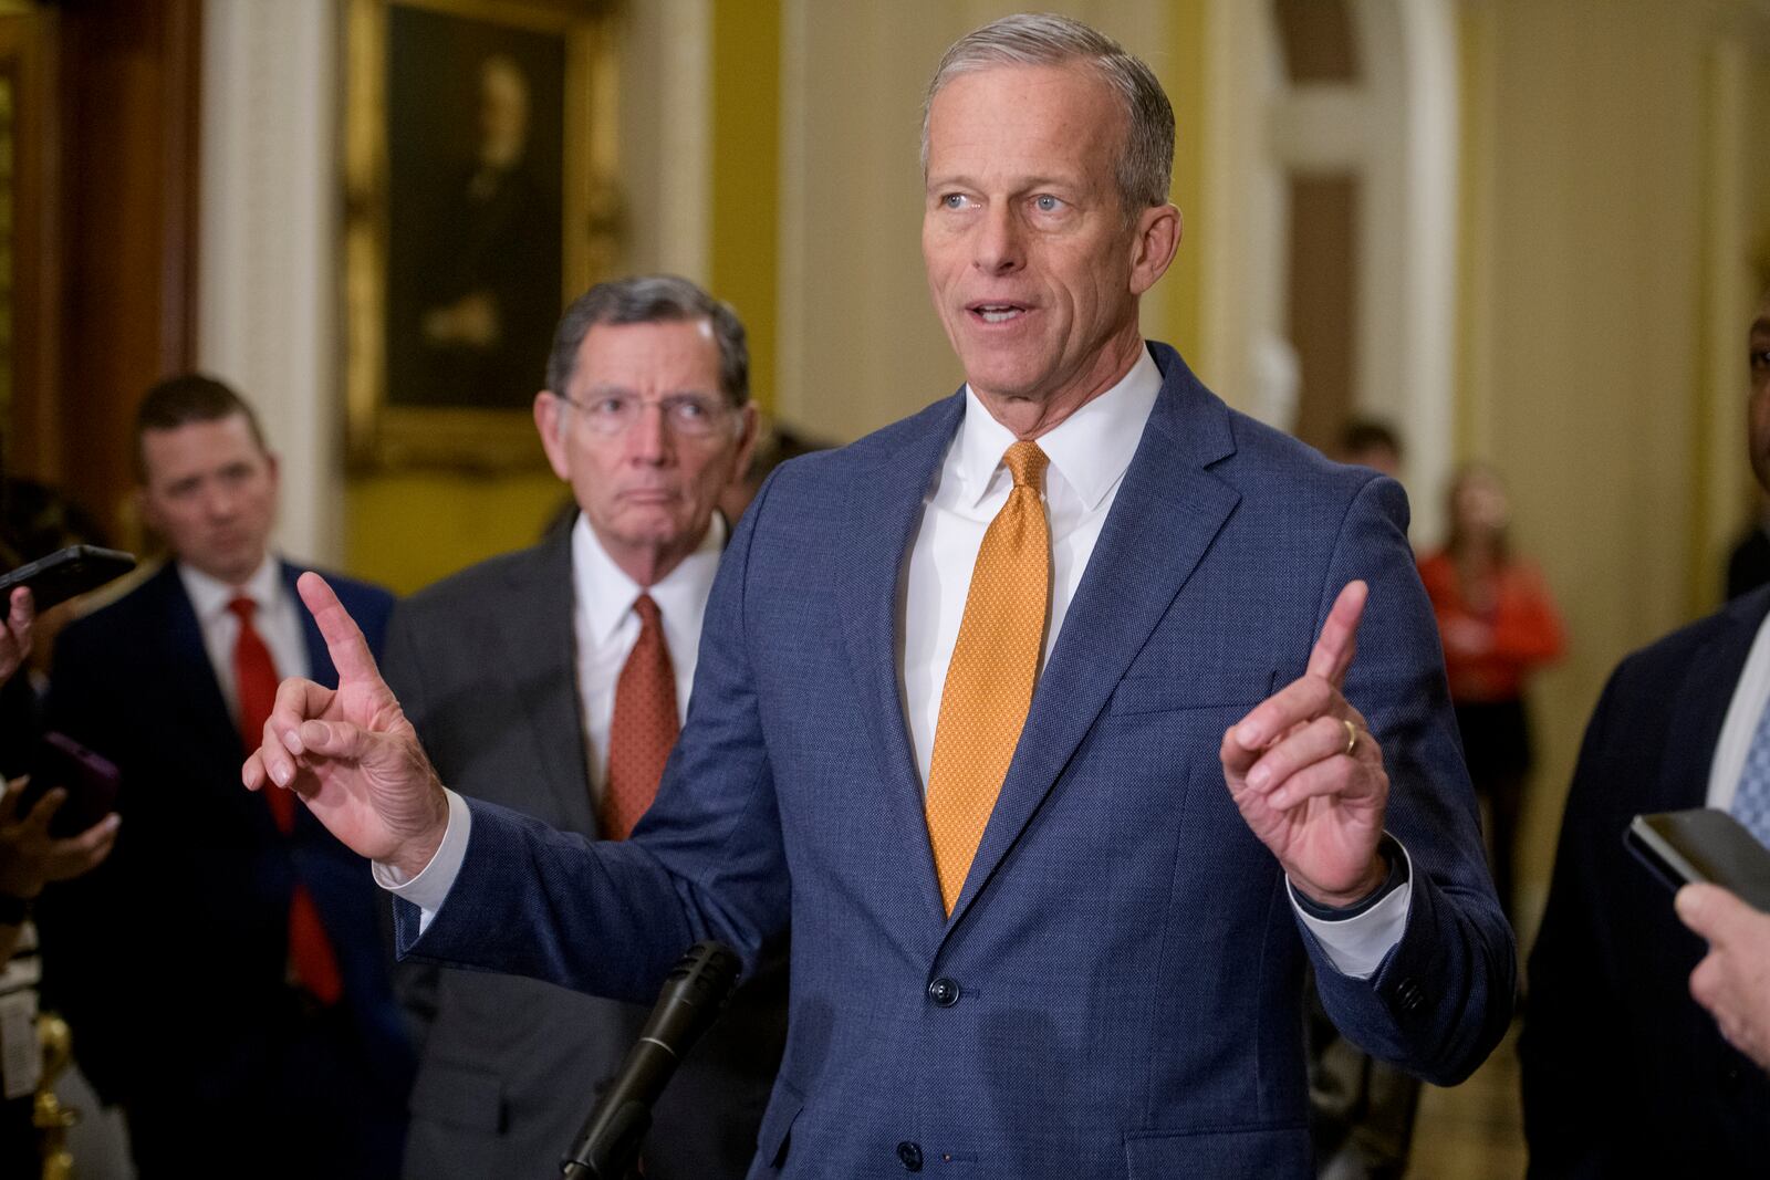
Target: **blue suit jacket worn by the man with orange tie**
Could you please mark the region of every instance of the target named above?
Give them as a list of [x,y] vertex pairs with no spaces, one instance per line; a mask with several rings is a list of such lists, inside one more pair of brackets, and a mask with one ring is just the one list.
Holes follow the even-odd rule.
[[[1510,1015],[1494,902],[1400,488],[1161,396],[1039,678],[949,918],[899,699],[903,564],[961,396],[788,464],[726,552],[689,724],[627,844],[474,805],[418,954],[650,998],[697,938],[791,923],[754,1176],[1308,1176],[1299,980],[1372,1053],[1455,1081]],[[1223,785],[1223,731],[1368,579],[1347,693],[1382,739],[1412,909],[1338,975]],[[936,1168],[940,1164],[940,1168]],[[950,1164],[950,1166],[949,1166]]]

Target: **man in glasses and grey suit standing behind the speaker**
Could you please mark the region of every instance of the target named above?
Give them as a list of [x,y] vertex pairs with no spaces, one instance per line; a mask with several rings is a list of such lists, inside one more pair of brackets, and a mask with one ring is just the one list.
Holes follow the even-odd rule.
[[[535,426],[572,485],[575,524],[402,601],[384,670],[457,791],[620,839],[632,816],[611,778],[648,708],[662,708],[634,805],[657,791],[727,536],[713,508],[756,439],[743,326],[687,280],[600,283],[559,320]],[[667,672],[653,678],[657,701],[639,679],[646,660]],[[784,955],[768,964],[658,1104],[650,1180],[742,1176],[756,1153],[786,1033]],[[512,975],[411,969],[409,1007],[427,1031],[405,1175],[556,1169],[648,1008]]]

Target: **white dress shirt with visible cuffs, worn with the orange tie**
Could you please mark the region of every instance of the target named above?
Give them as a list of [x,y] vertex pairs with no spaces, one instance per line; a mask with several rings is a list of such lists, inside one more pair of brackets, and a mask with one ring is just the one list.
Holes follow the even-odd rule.
[[[1046,628],[1044,656],[1050,656],[1062,632],[1076,586],[1094,554],[1101,525],[1112,511],[1159,393],[1161,370],[1156,368],[1149,350],[1142,349],[1138,361],[1119,384],[1037,439],[1050,460],[1044,501],[1051,529],[1051,619]],[[977,563],[984,531],[1012,488],[1012,478],[1002,464],[1011,442],[1014,442],[1012,432],[991,418],[966,386],[965,418],[924,497],[922,522],[899,586],[899,686],[924,791],[935,750],[940,695],[959,637],[965,598],[970,593],[970,571]],[[441,908],[448,888],[455,883],[467,851],[469,823],[466,801],[450,793],[448,833],[430,865],[411,881],[400,881],[398,874],[384,865],[375,867],[377,881],[425,911],[419,929]],[[1292,908],[1342,973],[1368,978],[1400,941],[1411,895],[1409,876],[1405,885],[1354,918],[1315,918],[1296,906],[1294,897]],[[1209,900],[1200,899],[1200,904]]]

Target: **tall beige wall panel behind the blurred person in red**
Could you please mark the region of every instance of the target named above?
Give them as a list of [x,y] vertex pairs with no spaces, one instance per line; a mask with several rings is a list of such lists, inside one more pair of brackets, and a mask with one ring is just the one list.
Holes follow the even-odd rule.
[[1697,5],[1655,0],[1492,9],[1489,281],[1467,310],[1489,352],[1462,421],[1572,633],[1535,692],[1524,885],[1542,888],[1605,676],[1690,617],[1706,35]]

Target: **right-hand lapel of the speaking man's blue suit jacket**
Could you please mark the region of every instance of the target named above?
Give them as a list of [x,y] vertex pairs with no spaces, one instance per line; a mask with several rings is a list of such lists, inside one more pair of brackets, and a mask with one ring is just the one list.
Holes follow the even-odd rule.
[[1235,449],[1227,409],[1177,352],[1163,345],[1152,352],[1163,370],[1161,396],[1039,676],[1027,727],[952,923],[963,920],[1012,851],[1239,502],[1234,490],[1205,471]]

